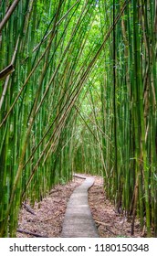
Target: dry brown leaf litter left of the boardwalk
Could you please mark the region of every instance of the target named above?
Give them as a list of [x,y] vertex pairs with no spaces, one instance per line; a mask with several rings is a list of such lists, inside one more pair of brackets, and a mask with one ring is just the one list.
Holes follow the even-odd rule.
[[[22,208],[18,218],[18,229],[37,233],[48,238],[58,238],[67,208],[68,198],[82,180],[75,178],[67,185],[58,185],[51,189],[49,195],[36,203],[33,211],[36,215]],[[25,233],[16,233],[18,238],[34,237]]]

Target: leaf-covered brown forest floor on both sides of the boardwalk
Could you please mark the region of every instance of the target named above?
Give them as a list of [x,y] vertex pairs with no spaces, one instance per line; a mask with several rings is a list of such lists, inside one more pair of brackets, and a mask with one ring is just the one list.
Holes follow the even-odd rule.
[[[75,187],[82,182],[82,179],[75,177],[72,182],[66,185],[53,187],[49,195],[32,208],[31,211],[34,214],[27,211],[26,207],[23,206],[18,218],[16,237],[30,238],[37,235],[49,238],[60,237],[68,198]],[[135,221],[134,235],[131,236],[131,222],[125,216],[120,215],[110,201],[106,199],[103,181],[99,176],[95,176],[94,186],[89,189],[89,206],[93,219],[96,221],[100,238],[137,238],[142,236],[138,220]],[[34,233],[34,235],[30,233]]]

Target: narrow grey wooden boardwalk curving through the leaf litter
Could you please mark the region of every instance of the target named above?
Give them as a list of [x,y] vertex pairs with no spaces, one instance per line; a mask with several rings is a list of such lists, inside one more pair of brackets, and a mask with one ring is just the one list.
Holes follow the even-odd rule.
[[98,238],[99,234],[89,208],[88,190],[94,178],[88,177],[77,187],[68,201],[62,238]]

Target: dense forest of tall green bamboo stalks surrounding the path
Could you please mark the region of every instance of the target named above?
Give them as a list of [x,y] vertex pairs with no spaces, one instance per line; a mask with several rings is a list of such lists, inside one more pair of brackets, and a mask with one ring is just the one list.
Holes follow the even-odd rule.
[[0,0],[0,237],[73,174],[157,237],[157,1]]

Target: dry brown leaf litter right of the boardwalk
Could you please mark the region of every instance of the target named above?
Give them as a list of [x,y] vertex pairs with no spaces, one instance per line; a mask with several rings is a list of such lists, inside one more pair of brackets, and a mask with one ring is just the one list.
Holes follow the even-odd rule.
[[[89,189],[89,206],[99,230],[99,237],[131,237],[131,222],[120,215],[114,205],[105,197],[103,190],[103,179],[95,176],[95,184]],[[135,222],[134,235],[141,237],[140,223]]]

